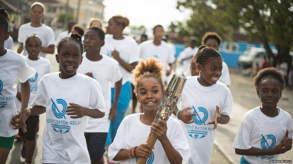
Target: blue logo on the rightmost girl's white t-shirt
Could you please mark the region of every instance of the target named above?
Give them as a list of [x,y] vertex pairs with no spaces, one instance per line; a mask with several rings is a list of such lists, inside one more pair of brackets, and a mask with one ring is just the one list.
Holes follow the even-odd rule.
[[[271,149],[273,147],[275,147],[276,145],[276,137],[272,134],[268,134],[267,135],[267,140],[266,138],[264,137],[264,135],[261,134],[261,148],[263,150],[268,150],[268,149]],[[269,140],[271,140],[271,144],[269,144]],[[261,158],[261,160],[264,160],[264,159],[267,159],[267,160],[270,160],[272,158],[274,158],[275,156],[270,156],[270,155],[262,155],[262,156],[256,156],[258,158]]]

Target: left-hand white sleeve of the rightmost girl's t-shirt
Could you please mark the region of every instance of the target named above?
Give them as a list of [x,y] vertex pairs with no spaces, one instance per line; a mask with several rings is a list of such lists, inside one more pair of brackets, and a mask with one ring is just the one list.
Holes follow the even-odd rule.
[[236,134],[232,147],[237,149],[242,149],[242,150],[247,150],[252,148],[249,141],[251,132],[252,132],[252,120],[249,118],[249,116],[245,115],[243,117],[243,120],[240,123],[239,129]]

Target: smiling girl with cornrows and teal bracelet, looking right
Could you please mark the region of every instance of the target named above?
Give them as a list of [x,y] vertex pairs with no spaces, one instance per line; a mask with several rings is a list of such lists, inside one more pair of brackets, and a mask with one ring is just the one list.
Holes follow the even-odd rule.
[[[183,111],[173,114],[180,122],[189,142],[188,163],[210,163],[217,124],[227,124],[232,115],[232,95],[219,82],[222,56],[213,48],[201,45],[196,53],[199,76],[187,78],[179,99]],[[211,125],[213,124],[213,125]]]

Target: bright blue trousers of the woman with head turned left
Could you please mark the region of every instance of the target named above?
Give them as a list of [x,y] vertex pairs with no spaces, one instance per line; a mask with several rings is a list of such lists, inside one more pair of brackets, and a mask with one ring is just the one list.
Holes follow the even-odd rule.
[[[126,82],[124,85],[122,85],[122,88],[121,88],[120,96],[118,99],[118,105],[117,105],[117,115],[114,118],[114,120],[111,120],[106,145],[111,144],[112,141],[114,140],[117,133],[117,129],[125,117],[125,112],[128,108],[128,104],[131,100],[131,96],[132,96],[131,84],[130,82]],[[111,104],[113,104],[113,101],[114,101],[114,88],[111,89]]]

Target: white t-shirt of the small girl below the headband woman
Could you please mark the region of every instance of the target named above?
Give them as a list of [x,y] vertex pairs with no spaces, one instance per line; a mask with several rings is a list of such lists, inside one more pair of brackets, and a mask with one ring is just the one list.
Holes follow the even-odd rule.
[[[35,100],[37,96],[37,90],[38,90],[38,83],[41,80],[41,78],[51,72],[51,65],[48,59],[45,59],[43,57],[40,57],[38,60],[31,60],[29,59],[29,56],[26,57],[26,62],[29,67],[34,68],[37,72],[35,73],[35,76],[29,78],[29,86],[30,86],[30,95],[29,95],[29,104],[28,108],[32,107],[32,102]],[[17,85],[17,92],[20,92],[20,83]],[[15,105],[17,107],[17,111],[20,111],[21,108],[21,102],[16,99]]]

